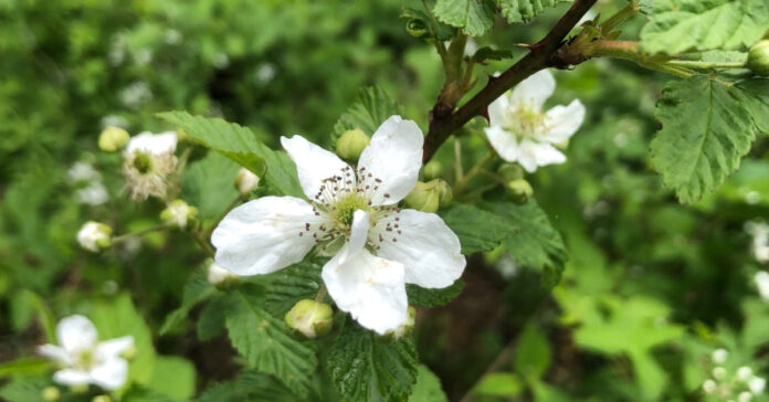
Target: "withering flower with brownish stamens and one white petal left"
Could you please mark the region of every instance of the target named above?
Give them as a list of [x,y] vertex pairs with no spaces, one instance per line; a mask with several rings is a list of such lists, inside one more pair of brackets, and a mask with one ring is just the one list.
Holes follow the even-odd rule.
[[123,170],[131,199],[144,201],[149,195],[164,197],[168,177],[175,172],[177,134],[141,133],[133,137],[124,152]]

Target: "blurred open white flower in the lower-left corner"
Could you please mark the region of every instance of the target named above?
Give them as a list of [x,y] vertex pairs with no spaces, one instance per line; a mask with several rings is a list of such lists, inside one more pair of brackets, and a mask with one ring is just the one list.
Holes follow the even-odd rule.
[[54,381],[66,385],[95,384],[107,390],[125,384],[128,362],[120,353],[134,346],[133,337],[98,342],[94,325],[74,315],[59,321],[56,338],[61,346],[48,343],[39,348],[41,355],[62,367],[54,373]]

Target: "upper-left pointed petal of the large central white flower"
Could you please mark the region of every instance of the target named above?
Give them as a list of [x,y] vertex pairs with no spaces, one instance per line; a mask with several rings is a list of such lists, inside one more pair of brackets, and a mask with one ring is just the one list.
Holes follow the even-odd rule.
[[318,147],[302,136],[281,137],[281,144],[296,163],[299,184],[302,184],[302,190],[308,199],[315,199],[324,184],[323,181],[331,177],[344,178],[349,174],[347,179],[351,180],[352,183],[347,187],[355,187],[352,169],[333,152]]

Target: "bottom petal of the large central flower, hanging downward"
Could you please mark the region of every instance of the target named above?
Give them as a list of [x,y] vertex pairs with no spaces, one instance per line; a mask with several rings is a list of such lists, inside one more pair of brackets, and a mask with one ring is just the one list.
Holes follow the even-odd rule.
[[323,267],[323,281],[339,309],[380,335],[405,322],[403,265],[371,255],[365,248],[344,264],[339,264],[338,256]]

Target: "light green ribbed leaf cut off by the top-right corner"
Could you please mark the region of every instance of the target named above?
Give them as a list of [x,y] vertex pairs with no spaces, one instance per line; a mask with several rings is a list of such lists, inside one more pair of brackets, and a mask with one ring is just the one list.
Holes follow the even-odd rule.
[[677,54],[749,46],[769,29],[766,0],[671,0],[654,4],[641,49]]

